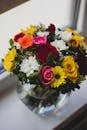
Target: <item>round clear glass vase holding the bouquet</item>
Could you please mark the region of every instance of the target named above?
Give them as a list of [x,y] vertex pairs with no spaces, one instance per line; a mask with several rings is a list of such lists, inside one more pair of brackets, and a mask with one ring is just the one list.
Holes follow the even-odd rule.
[[[40,116],[56,114],[67,103],[70,93],[58,94],[56,91],[49,94],[46,91],[43,96],[38,96],[33,89],[28,89],[20,83],[17,84],[17,93],[22,102],[34,113]],[[54,102],[55,99],[55,102]]]

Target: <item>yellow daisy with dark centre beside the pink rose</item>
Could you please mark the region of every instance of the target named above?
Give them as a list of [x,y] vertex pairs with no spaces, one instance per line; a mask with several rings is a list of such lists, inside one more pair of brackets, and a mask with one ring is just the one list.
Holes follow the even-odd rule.
[[54,78],[51,81],[51,87],[58,88],[61,84],[66,83],[66,75],[63,68],[61,68],[60,66],[55,66],[54,68],[52,68],[52,71],[54,73]]

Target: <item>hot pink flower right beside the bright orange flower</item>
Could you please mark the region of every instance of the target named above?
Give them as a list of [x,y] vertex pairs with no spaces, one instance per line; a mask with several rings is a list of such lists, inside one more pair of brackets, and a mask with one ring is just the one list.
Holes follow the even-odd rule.
[[46,36],[36,36],[36,37],[34,37],[33,42],[34,42],[34,44],[37,44],[37,45],[46,44],[47,37]]

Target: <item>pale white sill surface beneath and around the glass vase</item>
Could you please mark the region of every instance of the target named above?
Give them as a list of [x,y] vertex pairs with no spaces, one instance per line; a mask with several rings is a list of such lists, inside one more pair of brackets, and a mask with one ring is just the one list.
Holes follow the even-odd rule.
[[16,85],[0,95],[0,130],[51,130],[87,103],[87,81],[72,92],[67,104],[54,117],[39,117],[20,101]]

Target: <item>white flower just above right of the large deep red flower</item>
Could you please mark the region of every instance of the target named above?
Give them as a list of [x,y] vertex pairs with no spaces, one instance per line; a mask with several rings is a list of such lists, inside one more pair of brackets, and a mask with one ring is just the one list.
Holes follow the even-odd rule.
[[55,46],[59,50],[65,50],[68,48],[68,46],[66,46],[66,43],[63,40],[55,40],[51,42],[51,45]]

